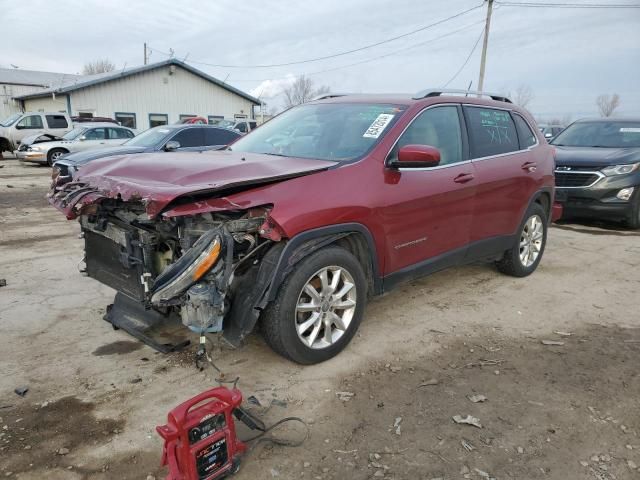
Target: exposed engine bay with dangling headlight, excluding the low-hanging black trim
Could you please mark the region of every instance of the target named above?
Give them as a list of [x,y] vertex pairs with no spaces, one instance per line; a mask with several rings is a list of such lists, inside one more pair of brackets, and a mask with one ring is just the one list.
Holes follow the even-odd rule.
[[105,199],[80,216],[86,272],[150,314],[178,315],[194,332],[220,332],[234,293],[255,286],[274,243],[264,237],[268,212],[149,220],[142,204]]

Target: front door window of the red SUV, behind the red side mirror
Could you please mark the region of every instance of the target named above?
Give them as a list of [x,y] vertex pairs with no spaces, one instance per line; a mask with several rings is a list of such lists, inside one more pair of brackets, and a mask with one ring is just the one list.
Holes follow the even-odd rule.
[[440,150],[440,165],[461,162],[462,132],[458,108],[453,105],[432,107],[420,113],[409,125],[388,160],[398,159],[398,151],[405,145],[430,145]]

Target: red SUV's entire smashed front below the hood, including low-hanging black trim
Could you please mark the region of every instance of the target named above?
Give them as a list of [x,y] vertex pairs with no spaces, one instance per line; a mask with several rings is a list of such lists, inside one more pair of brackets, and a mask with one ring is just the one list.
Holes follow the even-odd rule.
[[234,346],[252,330],[269,279],[260,271],[273,270],[280,250],[264,235],[277,228],[269,206],[151,219],[140,201],[76,195],[88,201],[71,207],[82,227],[86,273],[118,291],[105,317],[114,327],[160,351],[181,344],[150,332],[178,319],[194,332],[224,331]]

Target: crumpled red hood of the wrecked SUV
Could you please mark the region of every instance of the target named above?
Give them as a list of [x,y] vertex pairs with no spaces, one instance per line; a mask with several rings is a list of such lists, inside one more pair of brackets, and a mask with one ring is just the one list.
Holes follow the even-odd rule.
[[74,218],[80,208],[104,198],[135,200],[145,205],[153,218],[181,196],[257,186],[326,170],[335,164],[232,151],[125,155],[83,167],[76,181],[66,184],[50,201],[67,218]]

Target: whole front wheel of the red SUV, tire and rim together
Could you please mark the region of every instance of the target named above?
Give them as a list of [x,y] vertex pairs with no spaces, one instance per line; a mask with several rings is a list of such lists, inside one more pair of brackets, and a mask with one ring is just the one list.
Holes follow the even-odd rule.
[[347,250],[328,247],[304,258],[280,287],[262,319],[266,342],[301,364],[342,351],[362,320],[367,281]]

